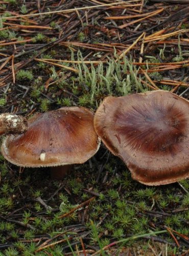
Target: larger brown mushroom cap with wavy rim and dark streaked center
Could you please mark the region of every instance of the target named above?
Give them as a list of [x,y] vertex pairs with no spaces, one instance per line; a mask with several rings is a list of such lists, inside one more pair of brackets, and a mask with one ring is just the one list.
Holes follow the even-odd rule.
[[189,101],[167,91],[107,97],[94,118],[107,148],[132,178],[161,185],[189,177]]

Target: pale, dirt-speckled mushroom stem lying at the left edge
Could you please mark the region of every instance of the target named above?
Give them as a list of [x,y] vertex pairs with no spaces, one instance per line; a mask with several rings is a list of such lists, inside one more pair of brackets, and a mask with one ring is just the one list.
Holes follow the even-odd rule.
[[0,135],[21,134],[28,129],[26,118],[10,113],[0,115]]

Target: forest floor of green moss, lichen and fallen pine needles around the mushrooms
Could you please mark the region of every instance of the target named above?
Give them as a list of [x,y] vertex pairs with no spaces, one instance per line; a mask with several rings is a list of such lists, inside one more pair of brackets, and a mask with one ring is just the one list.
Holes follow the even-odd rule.
[[[189,96],[188,1],[0,2],[0,109]],[[0,255],[188,255],[189,183],[146,186],[101,144],[62,181],[0,156]]]

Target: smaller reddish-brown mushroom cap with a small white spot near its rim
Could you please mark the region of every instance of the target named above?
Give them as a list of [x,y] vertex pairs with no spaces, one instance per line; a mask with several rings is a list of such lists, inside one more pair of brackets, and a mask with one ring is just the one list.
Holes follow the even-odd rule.
[[4,140],[2,154],[18,166],[58,166],[84,163],[99,146],[93,113],[85,108],[65,107],[32,117],[25,134]]

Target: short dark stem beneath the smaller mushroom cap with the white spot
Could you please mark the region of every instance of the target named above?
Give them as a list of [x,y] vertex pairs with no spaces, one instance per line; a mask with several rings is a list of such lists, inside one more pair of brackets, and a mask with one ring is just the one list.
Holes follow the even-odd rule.
[[51,179],[62,180],[72,169],[73,164],[51,167]]

